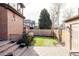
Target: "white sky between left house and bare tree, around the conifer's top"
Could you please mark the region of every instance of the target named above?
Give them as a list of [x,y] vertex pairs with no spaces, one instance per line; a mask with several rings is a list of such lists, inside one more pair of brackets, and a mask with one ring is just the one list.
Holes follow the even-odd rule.
[[35,20],[38,22],[39,15],[42,9],[46,8],[49,11],[50,4],[48,3],[27,3],[25,4],[24,15],[26,19]]

